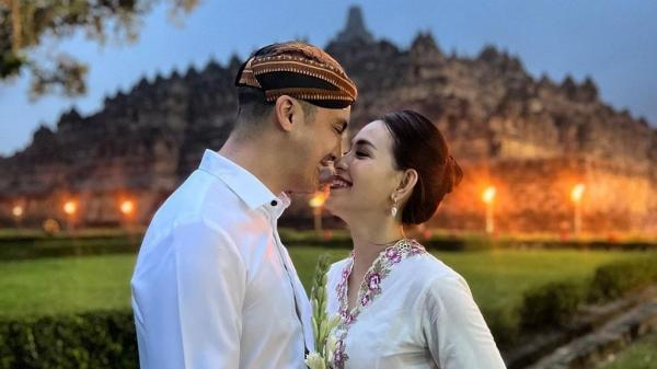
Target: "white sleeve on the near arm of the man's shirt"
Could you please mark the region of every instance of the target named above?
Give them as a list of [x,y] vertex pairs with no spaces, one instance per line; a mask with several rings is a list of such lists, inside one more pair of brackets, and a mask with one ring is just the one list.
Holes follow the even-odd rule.
[[237,245],[208,223],[195,224],[178,242],[184,245],[174,247],[184,368],[238,368],[246,270]]

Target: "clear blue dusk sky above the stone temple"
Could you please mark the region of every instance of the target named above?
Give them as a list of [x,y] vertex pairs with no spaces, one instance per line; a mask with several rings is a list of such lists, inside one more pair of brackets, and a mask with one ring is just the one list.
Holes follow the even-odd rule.
[[[606,103],[657,126],[657,1],[205,0],[181,26],[168,21],[165,8],[155,9],[130,45],[101,47],[82,36],[57,45],[89,64],[85,96],[30,103],[27,76],[0,84],[0,154],[26,147],[41,124],[55,127],[71,106],[93,114],[104,96],[127,92],[143,76],[168,76],[191,65],[201,69],[210,58],[224,64],[231,54],[243,58],[292,38],[325,46],[343,28],[351,4],[362,8],[374,37],[403,48],[418,31],[430,31],[445,53],[474,57],[492,44],[517,55],[534,77],[561,81],[570,73],[580,82],[591,76]],[[35,53],[46,57],[47,49]]]

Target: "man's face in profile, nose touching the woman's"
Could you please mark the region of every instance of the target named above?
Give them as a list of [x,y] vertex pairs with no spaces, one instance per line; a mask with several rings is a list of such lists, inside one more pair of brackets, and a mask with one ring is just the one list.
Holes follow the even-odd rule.
[[301,129],[300,150],[292,191],[314,193],[331,181],[333,162],[341,155],[341,142],[346,132],[351,108],[315,107],[306,117]]

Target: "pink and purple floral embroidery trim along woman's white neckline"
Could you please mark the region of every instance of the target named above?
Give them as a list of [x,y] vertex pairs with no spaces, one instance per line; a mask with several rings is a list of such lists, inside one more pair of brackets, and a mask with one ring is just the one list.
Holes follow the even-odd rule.
[[335,288],[339,301],[341,322],[334,331],[336,346],[333,351],[333,369],[344,369],[345,362],[349,359],[349,356],[345,353],[345,339],[349,327],[356,322],[362,309],[371,304],[381,295],[381,282],[390,274],[392,267],[404,258],[423,253],[426,253],[426,250],[417,241],[407,239],[402,239],[394,245],[382,251],[365,274],[365,278],[358,289],[358,303],[351,311],[348,311],[347,287],[349,275],[354,267],[354,252],[351,252],[349,261],[342,270],[341,281]]

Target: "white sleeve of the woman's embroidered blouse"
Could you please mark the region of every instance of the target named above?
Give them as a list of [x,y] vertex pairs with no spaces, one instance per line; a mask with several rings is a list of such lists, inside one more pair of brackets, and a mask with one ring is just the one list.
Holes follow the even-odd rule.
[[441,369],[506,368],[461,276],[437,278],[429,284],[422,326],[429,351]]

